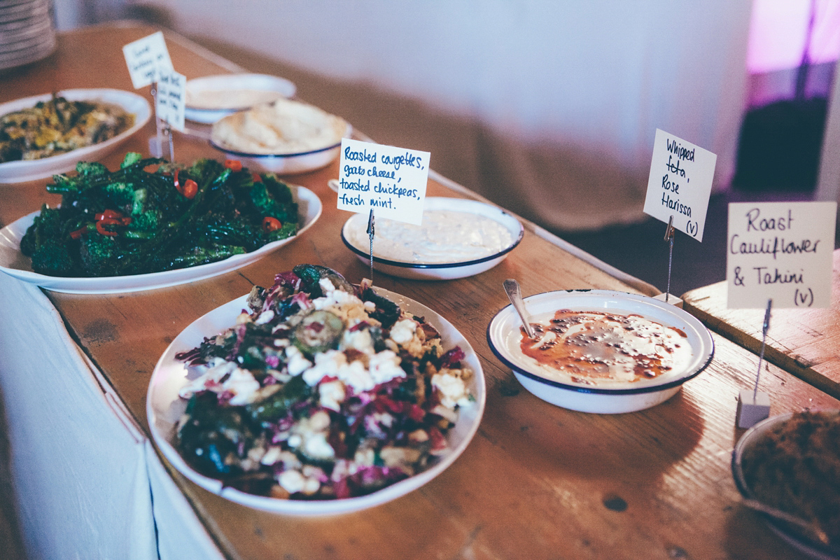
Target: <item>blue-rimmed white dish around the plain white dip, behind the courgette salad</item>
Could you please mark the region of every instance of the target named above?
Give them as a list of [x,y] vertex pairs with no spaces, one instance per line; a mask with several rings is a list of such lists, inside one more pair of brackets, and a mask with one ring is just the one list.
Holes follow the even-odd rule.
[[[390,259],[382,259],[376,256],[376,244],[374,240],[374,257],[373,268],[386,275],[398,276],[400,278],[409,278],[412,280],[454,280],[456,278],[465,278],[480,274],[485,270],[490,270],[496,264],[501,263],[513,249],[522,241],[525,234],[525,229],[522,227],[522,222],[519,222],[516,217],[505,212],[499,207],[492,206],[480,201],[471,201],[464,198],[448,198],[444,196],[429,196],[424,203],[424,210],[450,210],[453,212],[470,212],[478,216],[489,217],[496,222],[501,223],[511,233],[513,242],[496,254],[491,254],[486,257],[474,260],[465,260],[454,263],[410,263],[404,261],[396,261]],[[375,217],[375,216],[374,216]],[[344,227],[341,228],[341,240],[348,249],[354,252],[359,259],[365,263],[370,264],[370,244],[365,247],[359,247],[351,243],[353,238],[349,234],[352,229],[361,228],[367,229],[367,222],[369,216],[362,213],[356,213],[349,217],[347,222],[344,222]],[[374,222],[375,228],[375,222]]]

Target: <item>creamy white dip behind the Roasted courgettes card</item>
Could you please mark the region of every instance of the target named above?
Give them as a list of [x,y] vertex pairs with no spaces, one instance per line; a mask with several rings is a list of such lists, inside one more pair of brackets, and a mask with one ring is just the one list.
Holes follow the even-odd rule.
[[[350,222],[348,241],[370,250],[367,220]],[[423,224],[377,218],[373,254],[402,263],[461,263],[497,254],[512,245],[513,235],[496,220],[471,212],[426,210]]]

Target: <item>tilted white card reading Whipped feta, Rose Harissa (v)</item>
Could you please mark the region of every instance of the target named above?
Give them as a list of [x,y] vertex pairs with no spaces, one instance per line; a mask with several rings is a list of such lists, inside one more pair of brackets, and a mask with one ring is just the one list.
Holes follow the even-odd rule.
[[717,155],[656,129],[644,213],[703,240]]

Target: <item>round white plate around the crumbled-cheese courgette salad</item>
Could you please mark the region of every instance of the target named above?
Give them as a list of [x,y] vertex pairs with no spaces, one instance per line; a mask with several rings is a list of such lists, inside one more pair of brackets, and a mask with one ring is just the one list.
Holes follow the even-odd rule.
[[470,382],[470,392],[475,397],[475,402],[459,409],[458,421],[446,435],[449,452],[438,457],[429,468],[369,495],[342,500],[305,501],[248,494],[224,486],[220,480],[209,478],[190,467],[174,447],[176,424],[186,409],[186,400],[181,399],[178,391],[187,382],[186,365],[175,356],[177,353],[197,347],[204,338],[232,327],[239,313],[243,309],[248,309],[246,303],[248,296],[229,301],[192,322],[172,341],[169,348],[166,348],[155,366],[146,395],[146,415],[149,418],[152,437],[165,458],[186,478],[223,498],[259,510],[302,516],[322,516],[365,510],[406,495],[442,473],[464,452],[472,437],[475,436],[481,415],[484,413],[486,385],[480,361],[466,338],[452,323],[438,313],[417,301],[388,290],[376,288],[376,293],[391,299],[402,309],[418,317],[424,317],[426,322],[440,332],[444,349],[459,346],[464,351],[465,359],[461,361],[474,373]]

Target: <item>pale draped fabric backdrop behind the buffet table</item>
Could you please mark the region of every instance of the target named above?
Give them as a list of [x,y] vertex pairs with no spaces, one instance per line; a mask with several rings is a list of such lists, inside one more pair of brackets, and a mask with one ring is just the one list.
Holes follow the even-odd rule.
[[[748,0],[143,3],[182,34],[464,122],[459,154],[431,133],[405,147],[551,228],[638,219],[656,128],[715,152],[717,187],[734,170]],[[374,135],[381,123],[419,126],[410,118],[370,107],[354,124]]]

